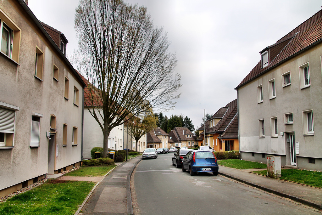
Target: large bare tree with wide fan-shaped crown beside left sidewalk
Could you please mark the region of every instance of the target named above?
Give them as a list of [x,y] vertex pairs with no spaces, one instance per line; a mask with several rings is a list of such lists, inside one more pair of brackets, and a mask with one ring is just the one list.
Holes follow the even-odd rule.
[[88,109],[103,131],[105,157],[112,128],[150,107],[174,108],[181,76],[174,74],[176,58],[169,53],[166,33],[154,27],[145,7],[122,0],[80,0],[75,30],[75,63],[91,83]]

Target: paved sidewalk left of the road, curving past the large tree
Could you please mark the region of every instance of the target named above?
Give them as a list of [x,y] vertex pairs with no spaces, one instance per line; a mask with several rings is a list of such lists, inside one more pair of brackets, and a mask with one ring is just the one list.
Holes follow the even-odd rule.
[[141,159],[142,156],[137,156],[119,164],[99,182],[81,212],[75,215],[133,214],[130,177]]

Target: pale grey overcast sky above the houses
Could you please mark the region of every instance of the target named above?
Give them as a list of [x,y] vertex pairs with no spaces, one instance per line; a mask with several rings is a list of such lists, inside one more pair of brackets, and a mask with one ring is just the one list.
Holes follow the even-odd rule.
[[[206,113],[237,98],[234,88],[274,44],[321,9],[321,0],[217,1],[125,0],[144,5],[156,26],[163,26],[182,76],[181,97],[164,114],[183,114],[200,126]],[[78,48],[74,14],[78,0],[29,0],[36,17],[61,31],[67,55]]]

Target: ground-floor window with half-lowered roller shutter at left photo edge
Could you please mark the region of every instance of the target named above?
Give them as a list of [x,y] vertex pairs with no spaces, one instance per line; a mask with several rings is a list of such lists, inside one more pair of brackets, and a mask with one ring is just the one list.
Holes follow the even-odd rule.
[[15,111],[19,107],[0,102],[0,147],[14,146]]

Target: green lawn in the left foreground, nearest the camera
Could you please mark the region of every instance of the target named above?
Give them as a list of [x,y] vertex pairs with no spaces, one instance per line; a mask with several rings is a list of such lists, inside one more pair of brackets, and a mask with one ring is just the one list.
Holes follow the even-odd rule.
[[0,204],[0,214],[73,215],[96,182],[49,180]]

